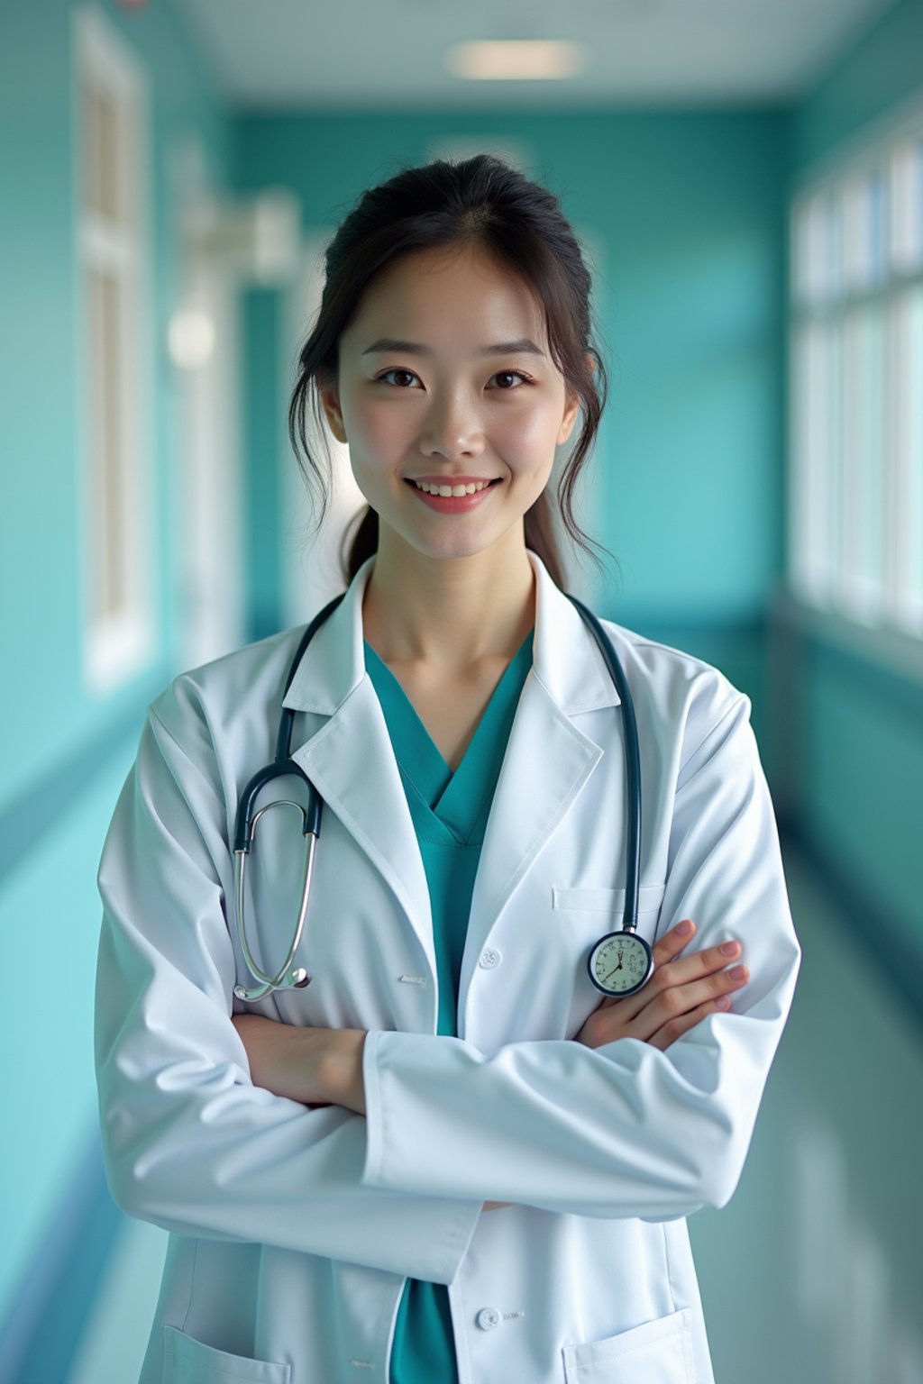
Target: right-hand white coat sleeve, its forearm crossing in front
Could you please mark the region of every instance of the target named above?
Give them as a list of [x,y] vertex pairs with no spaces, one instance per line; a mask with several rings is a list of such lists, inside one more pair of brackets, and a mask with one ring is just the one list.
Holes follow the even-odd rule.
[[736,937],[733,1010],[666,1052],[634,1038],[469,1042],[369,1034],[368,1186],[666,1221],[724,1205],[740,1175],[798,969],[775,818],[740,693],[678,774],[660,933]]

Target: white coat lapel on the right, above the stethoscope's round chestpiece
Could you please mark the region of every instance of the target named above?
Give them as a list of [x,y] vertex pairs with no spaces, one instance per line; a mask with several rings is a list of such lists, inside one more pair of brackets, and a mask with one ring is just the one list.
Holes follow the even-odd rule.
[[619,706],[602,653],[580,613],[541,559],[531,551],[529,558],[536,572],[533,668],[516,707],[484,833],[462,962],[462,1003],[494,923],[602,758],[602,749],[574,718]]

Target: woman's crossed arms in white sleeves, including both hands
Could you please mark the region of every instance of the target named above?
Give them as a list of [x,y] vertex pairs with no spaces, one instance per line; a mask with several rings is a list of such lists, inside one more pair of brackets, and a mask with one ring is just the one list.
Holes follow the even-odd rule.
[[118,1204],[179,1235],[439,1283],[488,1199],[650,1221],[722,1205],[800,955],[746,707],[732,710],[684,768],[663,907],[743,943],[740,1013],[718,1012],[744,983],[738,958],[686,955],[696,933],[677,925],[649,984],[602,1002],[574,1041],[486,1055],[429,1034],[231,1026],[227,803],[208,727],[154,709],[100,865],[95,1057]]

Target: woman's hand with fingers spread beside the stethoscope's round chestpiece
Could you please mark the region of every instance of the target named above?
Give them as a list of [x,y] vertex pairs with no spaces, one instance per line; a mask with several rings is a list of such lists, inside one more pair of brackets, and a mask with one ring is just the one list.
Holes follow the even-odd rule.
[[617,1038],[641,1038],[663,1049],[709,1014],[731,1009],[732,992],[750,978],[746,966],[725,969],[740,955],[740,943],[724,943],[679,958],[695,930],[689,918],[671,927],[653,947],[655,972],[648,984],[624,999],[603,999],[576,1041],[587,1048],[602,1048]]

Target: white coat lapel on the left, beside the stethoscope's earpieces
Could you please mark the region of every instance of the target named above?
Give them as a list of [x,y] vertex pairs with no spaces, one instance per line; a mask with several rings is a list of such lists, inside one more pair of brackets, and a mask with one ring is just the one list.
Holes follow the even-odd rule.
[[360,567],[311,639],[284,704],[327,717],[292,758],[385,877],[435,970],[423,859],[385,716],[365,674],[363,595],[372,565],[369,558]]

